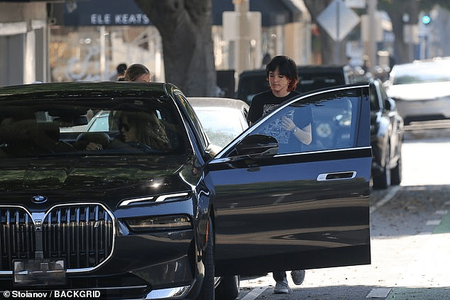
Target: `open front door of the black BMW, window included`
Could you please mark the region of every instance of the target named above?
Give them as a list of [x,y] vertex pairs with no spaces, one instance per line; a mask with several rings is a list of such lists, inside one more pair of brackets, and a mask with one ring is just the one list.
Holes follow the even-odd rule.
[[[289,100],[209,162],[217,275],[370,264],[368,92]],[[280,120],[311,113],[302,145]]]

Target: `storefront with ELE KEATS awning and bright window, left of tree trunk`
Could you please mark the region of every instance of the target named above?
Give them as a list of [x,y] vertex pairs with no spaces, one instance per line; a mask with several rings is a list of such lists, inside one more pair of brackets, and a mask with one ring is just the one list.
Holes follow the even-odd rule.
[[109,80],[120,63],[141,63],[164,80],[158,30],[133,0],[55,4],[50,26],[53,82]]

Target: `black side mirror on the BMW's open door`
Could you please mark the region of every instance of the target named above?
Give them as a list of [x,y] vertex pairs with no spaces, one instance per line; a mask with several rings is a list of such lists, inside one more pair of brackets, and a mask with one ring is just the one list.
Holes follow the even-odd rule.
[[238,155],[275,155],[278,153],[278,141],[269,135],[248,135],[236,145]]

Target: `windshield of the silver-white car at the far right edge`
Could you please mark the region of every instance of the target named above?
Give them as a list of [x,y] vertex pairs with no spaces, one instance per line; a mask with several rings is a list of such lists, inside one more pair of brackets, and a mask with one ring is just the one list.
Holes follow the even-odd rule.
[[449,62],[422,62],[398,65],[393,68],[393,84],[450,82]]

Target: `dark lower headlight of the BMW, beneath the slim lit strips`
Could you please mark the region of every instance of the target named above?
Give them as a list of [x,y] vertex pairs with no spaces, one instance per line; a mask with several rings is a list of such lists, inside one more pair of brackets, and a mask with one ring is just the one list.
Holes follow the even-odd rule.
[[192,228],[187,216],[148,216],[124,220],[131,231],[185,230]]

